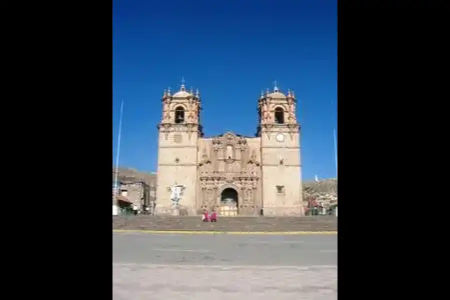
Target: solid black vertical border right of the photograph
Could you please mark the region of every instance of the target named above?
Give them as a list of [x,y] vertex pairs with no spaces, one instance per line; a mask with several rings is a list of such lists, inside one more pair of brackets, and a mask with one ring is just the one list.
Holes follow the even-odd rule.
[[[442,59],[434,43],[444,36],[446,18],[429,12],[418,2],[338,2],[338,262],[344,298],[418,296],[428,280],[420,276],[423,281],[414,284],[418,277],[407,272],[429,258],[421,243],[433,233],[423,231],[437,223],[425,220],[429,194],[422,179],[433,155],[427,152],[434,150],[424,136],[435,108],[430,95],[441,82],[428,85],[436,74],[433,60]],[[420,236],[425,240],[417,242]],[[406,280],[410,284],[400,285]]]

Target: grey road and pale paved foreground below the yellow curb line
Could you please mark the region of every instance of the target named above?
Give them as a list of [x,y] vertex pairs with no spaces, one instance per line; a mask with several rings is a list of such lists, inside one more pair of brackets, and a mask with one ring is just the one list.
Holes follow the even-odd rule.
[[337,235],[112,233],[112,298],[337,298]]

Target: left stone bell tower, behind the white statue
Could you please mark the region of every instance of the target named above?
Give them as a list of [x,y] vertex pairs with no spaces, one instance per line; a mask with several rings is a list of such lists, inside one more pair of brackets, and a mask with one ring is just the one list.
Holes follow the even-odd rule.
[[[162,118],[157,125],[158,166],[156,207],[158,215],[195,214],[195,190],[198,138],[203,136],[200,125],[200,94],[186,90],[184,79],[180,88],[162,95]],[[174,185],[182,186],[178,203],[170,193]]]

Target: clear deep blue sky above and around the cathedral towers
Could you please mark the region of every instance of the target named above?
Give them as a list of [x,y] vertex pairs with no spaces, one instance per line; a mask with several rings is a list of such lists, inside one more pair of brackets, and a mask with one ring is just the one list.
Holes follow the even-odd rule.
[[[160,98],[200,90],[206,136],[253,136],[261,89],[295,91],[303,179],[335,177],[337,1],[114,0],[112,163],[156,171]],[[231,107],[231,108],[227,108]],[[237,109],[239,107],[239,109]]]

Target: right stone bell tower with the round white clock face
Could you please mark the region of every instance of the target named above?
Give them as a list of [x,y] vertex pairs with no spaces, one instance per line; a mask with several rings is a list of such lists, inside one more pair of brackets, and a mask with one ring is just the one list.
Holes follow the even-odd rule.
[[296,98],[276,85],[258,100],[261,140],[263,214],[303,215],[300,163],[300,125],[295,116]]

